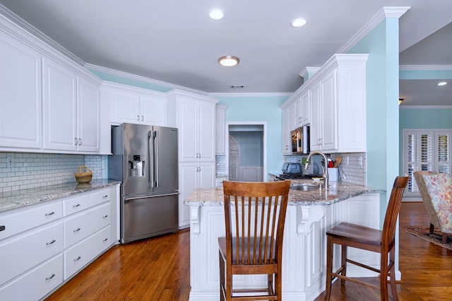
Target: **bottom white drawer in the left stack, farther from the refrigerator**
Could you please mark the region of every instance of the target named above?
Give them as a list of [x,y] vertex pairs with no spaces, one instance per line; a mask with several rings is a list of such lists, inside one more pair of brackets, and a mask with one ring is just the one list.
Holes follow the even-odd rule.
[[0,300],[40,300],[63,282],[63,254],[0,287]]

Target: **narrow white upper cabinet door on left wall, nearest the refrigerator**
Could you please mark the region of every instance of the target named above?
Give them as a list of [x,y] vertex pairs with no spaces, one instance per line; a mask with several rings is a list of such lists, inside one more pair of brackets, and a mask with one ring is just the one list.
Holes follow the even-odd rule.
[[99,87],[78,77],[78,151],[100,150],[100,96]]

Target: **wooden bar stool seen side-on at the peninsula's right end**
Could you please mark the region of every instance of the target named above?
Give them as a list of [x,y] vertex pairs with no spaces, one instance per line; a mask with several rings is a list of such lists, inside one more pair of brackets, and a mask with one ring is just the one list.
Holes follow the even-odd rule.
[[[340,223],[326,232],[326,296],[325,300],[330,300],[331,283],[334,278],[340,278],[340,284],[345,285],[345,281],[352,281],[366,285],[370,288],[380,289],[381,300],[388,299],[388,277],[391,279],[391,291],[393,300],[398,300],[396,288],[396,268],[394,261],[396,259],[396,223],[397,216],[402,204],[403,191],[408,183],[408,177],[396,177],[389,197],[388,208],[383,223],[383,230],[364,227],[351,223]],[[341,245],[341,265],[338,271],[333,273],[333,244]],[[380,268],[373,268],[357,261],[347,259],[347,247],[355,247],[372,252],[380,253]],[[389,261],[388,261],[389,254]],[[367,268],[379,273],[380,286],[372,285],[355,278],[346,276],[347,262]]]

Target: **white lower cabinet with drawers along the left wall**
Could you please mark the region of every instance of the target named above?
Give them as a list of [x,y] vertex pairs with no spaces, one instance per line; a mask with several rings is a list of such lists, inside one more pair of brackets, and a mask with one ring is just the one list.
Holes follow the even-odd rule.
[[118,191],[0,213],[0,300],[39,300],[117,242]]

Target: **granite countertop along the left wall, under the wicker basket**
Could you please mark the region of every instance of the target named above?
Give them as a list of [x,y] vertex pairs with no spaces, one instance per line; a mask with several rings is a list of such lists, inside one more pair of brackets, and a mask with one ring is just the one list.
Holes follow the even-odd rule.
[[50,185],[44,187],[4,192],[0,199],[0,212],[20,207],[34,205],[45,201],[81,194],[86,191],[101,189],[112,185],[121,184],[111,179],[94,179],[88,184],[70,182],[65,184]]

